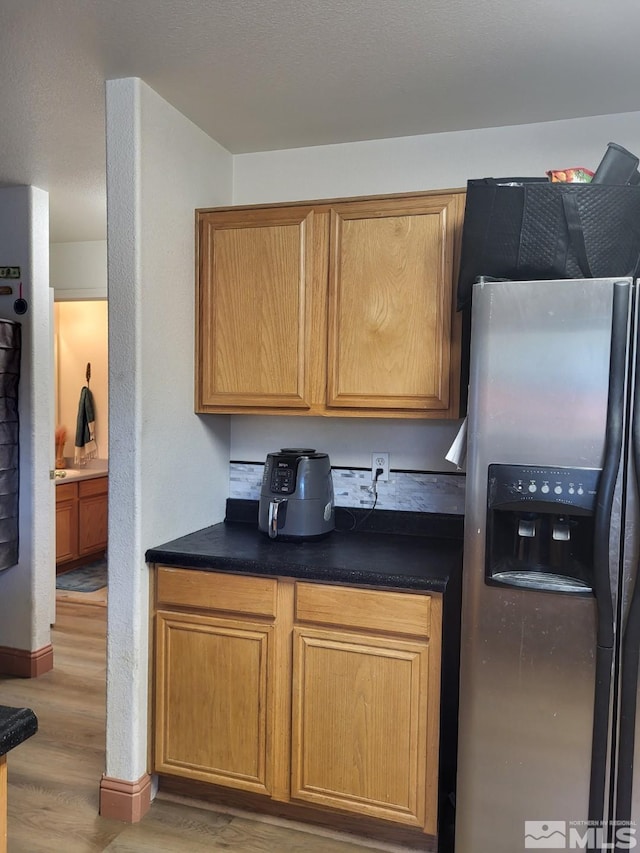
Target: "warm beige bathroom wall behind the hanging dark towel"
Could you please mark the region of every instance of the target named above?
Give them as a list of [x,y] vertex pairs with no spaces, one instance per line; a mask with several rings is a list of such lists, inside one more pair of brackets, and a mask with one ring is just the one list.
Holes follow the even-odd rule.
[[91,364],[89,387],[96,416],[98,456],[109,455],[109,367],[107,301],[56,302],[54,305],[56,349],[56,425],[67,428],[64,454],[73,461],[80,390],[85,385],[87,362]]

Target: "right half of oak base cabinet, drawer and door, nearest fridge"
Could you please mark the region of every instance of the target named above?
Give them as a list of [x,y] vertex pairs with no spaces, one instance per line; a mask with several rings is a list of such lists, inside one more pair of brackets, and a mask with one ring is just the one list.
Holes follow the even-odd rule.
[[413,593],[297,584],[293,798],[436,833],[433,603]]

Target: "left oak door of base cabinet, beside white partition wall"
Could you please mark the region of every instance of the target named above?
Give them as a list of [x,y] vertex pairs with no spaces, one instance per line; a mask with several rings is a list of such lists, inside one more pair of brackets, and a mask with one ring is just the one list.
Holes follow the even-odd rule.
[[160,611],[154,769],[269,794],[272,627]]

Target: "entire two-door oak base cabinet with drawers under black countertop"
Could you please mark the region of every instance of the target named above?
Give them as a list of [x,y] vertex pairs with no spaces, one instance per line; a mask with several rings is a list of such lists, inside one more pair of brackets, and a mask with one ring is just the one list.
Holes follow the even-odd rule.
[[435,835],[441,597],[156,572],[153,770]]

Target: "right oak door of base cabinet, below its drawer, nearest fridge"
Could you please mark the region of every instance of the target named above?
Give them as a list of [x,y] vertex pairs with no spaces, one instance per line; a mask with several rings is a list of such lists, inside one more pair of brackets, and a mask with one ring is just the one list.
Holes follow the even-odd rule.
[[293,668],[292,798],[432,831],[428,642],[296,627]]

